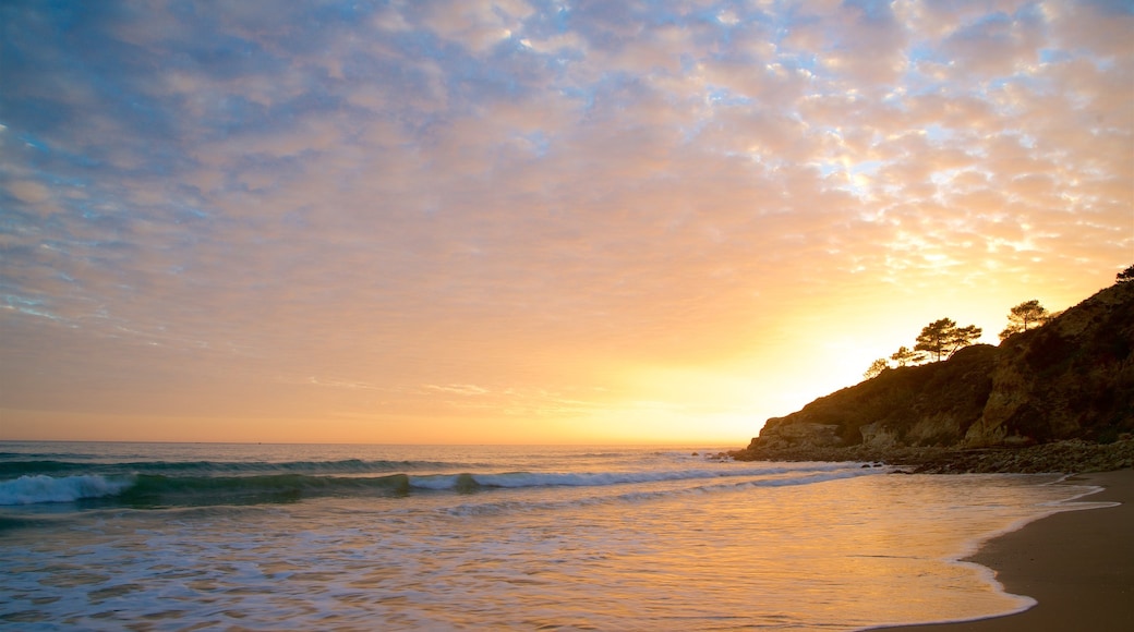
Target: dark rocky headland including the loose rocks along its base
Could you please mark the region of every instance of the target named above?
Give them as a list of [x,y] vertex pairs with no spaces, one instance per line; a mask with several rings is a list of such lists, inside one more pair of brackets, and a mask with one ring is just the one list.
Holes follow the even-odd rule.
[[999,347],[890,368],[769,419],[736,460],[873,461],[938,472],[1134,466],[1134,282]]

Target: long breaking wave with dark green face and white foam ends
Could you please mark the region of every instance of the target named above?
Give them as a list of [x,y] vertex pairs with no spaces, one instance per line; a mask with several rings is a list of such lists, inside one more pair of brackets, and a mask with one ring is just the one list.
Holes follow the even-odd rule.
[[[336,463],[332,469],[341,469],[346,462]],[[324,463],[324,466],[331,464]],[[185,463],[180,466],[185,466]],[[39,473],[0,481],[0,505],[78,503],[85,507],[113,505],[156,509],[294,503],[305,498],[328,496],[407,496],[412,493],[445,492],[467,494],[525,487],[602,487],[675,480],[735,479],[737,477],[760,477],[763,485],[796,485],[818,482],[841,476],[847,476],[847,464],[845,463],[590,473],[409,475],[397,472],[381,476],[330,476],[288,472],[225,476],[212,471],[212,476],[170,476],[151,472],[121,476],[83,473],[64,477]],[[733,485],[746,484],[750,482],[742,481]]]

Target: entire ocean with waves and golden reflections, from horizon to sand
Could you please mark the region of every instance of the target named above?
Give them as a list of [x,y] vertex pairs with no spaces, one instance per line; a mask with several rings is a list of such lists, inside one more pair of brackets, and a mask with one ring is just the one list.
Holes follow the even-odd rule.
[[1097,490],[718,450],[0,442],[0,629],[987,617],[1032,601],[958,560]]

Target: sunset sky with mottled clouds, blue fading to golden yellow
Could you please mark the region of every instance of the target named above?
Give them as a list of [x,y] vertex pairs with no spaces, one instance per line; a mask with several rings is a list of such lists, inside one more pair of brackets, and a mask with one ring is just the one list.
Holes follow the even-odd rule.
[[695,443],[1134,263],[1125,1],[7,1],[0,439]]

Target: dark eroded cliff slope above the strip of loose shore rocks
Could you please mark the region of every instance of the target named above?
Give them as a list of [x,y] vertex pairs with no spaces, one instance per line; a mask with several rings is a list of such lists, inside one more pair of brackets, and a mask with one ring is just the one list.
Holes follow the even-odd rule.
[[750,451],[1111,442],[1134,432],[1134,283],[999,347],[889,369],[772,418]]

